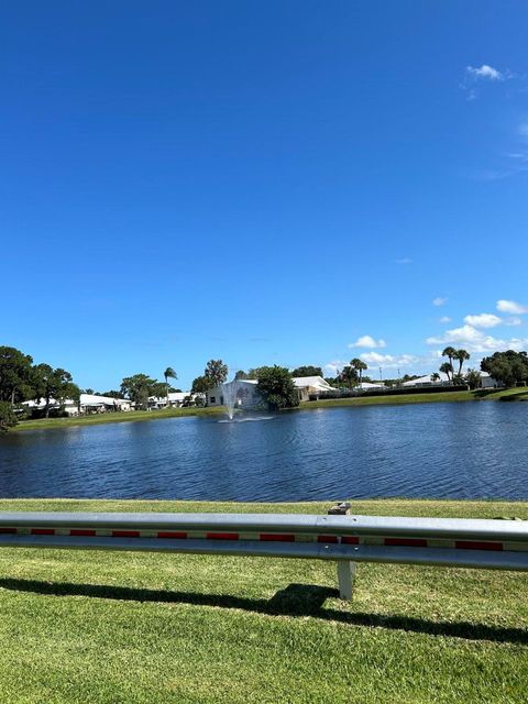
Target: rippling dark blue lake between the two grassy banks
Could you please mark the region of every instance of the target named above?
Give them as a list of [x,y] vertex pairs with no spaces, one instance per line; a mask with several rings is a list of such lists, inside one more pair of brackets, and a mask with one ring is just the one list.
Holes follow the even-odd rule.
[[528,498],[528,404],[436,403],[12,432],[1,497]]

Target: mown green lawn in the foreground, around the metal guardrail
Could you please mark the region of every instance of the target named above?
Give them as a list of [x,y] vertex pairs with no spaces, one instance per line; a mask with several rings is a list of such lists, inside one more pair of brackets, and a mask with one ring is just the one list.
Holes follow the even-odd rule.
[[[1,501],[2,510],[323,513],[329,504]],[[528,518],[528,503],[353,502],[384,515]],[[528,702],[528,574],[0,550],[0,702]]]

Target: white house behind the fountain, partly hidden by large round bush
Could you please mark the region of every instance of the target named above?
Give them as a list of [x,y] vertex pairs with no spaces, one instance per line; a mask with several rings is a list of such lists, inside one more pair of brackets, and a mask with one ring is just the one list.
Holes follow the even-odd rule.
[[[323,395],[334,391],[322,376],[296,376],[293,378],[300,400],[309,400],[310,395]],[[239,378],[216,386],[207,392],[208,406],[232,405],[233,408],[254,408],[262,402],[255,378]]]

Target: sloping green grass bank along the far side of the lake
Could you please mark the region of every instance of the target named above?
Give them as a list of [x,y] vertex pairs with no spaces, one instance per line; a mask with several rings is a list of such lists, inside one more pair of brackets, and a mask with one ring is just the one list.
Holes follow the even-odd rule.
[[[518,397],[518,398],[516,398]],[[476,389],[473,392],[437,392],[421,394],[402,394],[399,396],[359,396],[353,398],[330,398],[326,400],[304,402],[298,408],[289,411],[315,410],[320,408],[339,408],[343,406],[380,406],[408,405],[429,403],[462,403],[482,400],[527,400],[528,387],[507,389]],[[22,420],[11,429],[11,432],[24,430],[51,430],[53,428],[73,428],[80,426],[97,426],[111,422],[142,422],[145,420],[162,420],[166,418],[188,418],[224,415],[223,406],[207,408],[170,408],[168,410],[131,410],[128,413],[107,413],[76,418],[40,418],[37,420]]]

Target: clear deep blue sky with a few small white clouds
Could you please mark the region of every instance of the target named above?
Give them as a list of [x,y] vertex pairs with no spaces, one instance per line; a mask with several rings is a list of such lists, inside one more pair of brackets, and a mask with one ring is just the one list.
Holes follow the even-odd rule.
[[526,3],[1,19],[1,343],[99,391],[528,349]]

